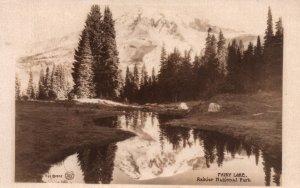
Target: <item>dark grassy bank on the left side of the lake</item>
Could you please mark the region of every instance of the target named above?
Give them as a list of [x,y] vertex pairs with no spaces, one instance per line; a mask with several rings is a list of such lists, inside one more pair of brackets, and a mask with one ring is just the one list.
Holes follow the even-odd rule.
[[83,147],[125,140],[133,133],[97,126],[95,118],[122,114],[110,107],[16,103],[15,181],[39,182],[50,165]]

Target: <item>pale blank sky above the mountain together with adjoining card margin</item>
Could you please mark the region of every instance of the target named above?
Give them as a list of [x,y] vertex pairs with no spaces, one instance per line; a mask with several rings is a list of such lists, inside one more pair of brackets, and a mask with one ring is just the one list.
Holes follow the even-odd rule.
[[[180,14],[207,19],[210,24],[263,34],[267,9],[272,8],[273,19],[286,13],[286,1],[277,0],[0,0],[1,43],[25,47],[32,42],[64,36],[82,29],[92,4],[110,5],[114,18],[130,7],[141,6],[176,10]],[[283,3],[285,2],[285,3]],[[4,30],[4,31],[3,31]]]

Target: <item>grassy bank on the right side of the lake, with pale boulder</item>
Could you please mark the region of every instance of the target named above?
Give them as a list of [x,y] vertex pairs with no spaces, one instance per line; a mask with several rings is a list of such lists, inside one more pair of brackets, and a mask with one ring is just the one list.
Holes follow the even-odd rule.
[[[208,113],[209,103],[222,106]],[[271,157],[282,152],[282,96],[279,93],[219,95],[207,101],[187,102],[191,107],[183,118],[166,123],[171,126],[217,131],[263,149]]]

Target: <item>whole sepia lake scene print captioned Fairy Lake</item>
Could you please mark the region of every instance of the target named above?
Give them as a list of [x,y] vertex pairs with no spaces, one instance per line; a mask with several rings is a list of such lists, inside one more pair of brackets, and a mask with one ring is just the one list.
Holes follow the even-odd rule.
[[5,4],[15,183],[283,186],[280,1]]

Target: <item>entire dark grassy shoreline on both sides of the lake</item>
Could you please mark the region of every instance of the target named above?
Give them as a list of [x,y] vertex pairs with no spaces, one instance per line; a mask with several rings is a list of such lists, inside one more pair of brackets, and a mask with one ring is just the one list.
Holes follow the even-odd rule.
[[[208,113],[211,102],[220,104],[221,111]],[[72,102],[17,102],[15,180],[38,182],[51,164],[80,148],[104,146],[134,136],[131,132],[97,125],[97,120],[116,117],[125,110],[154,111],[179,117],[165,124],[217,131],[259,146],[276,161],[281,160],[281,94],[224,94],[206,101],[189,101],[187,105],[188,111],[176,109],[178,103],[136,108]]]

